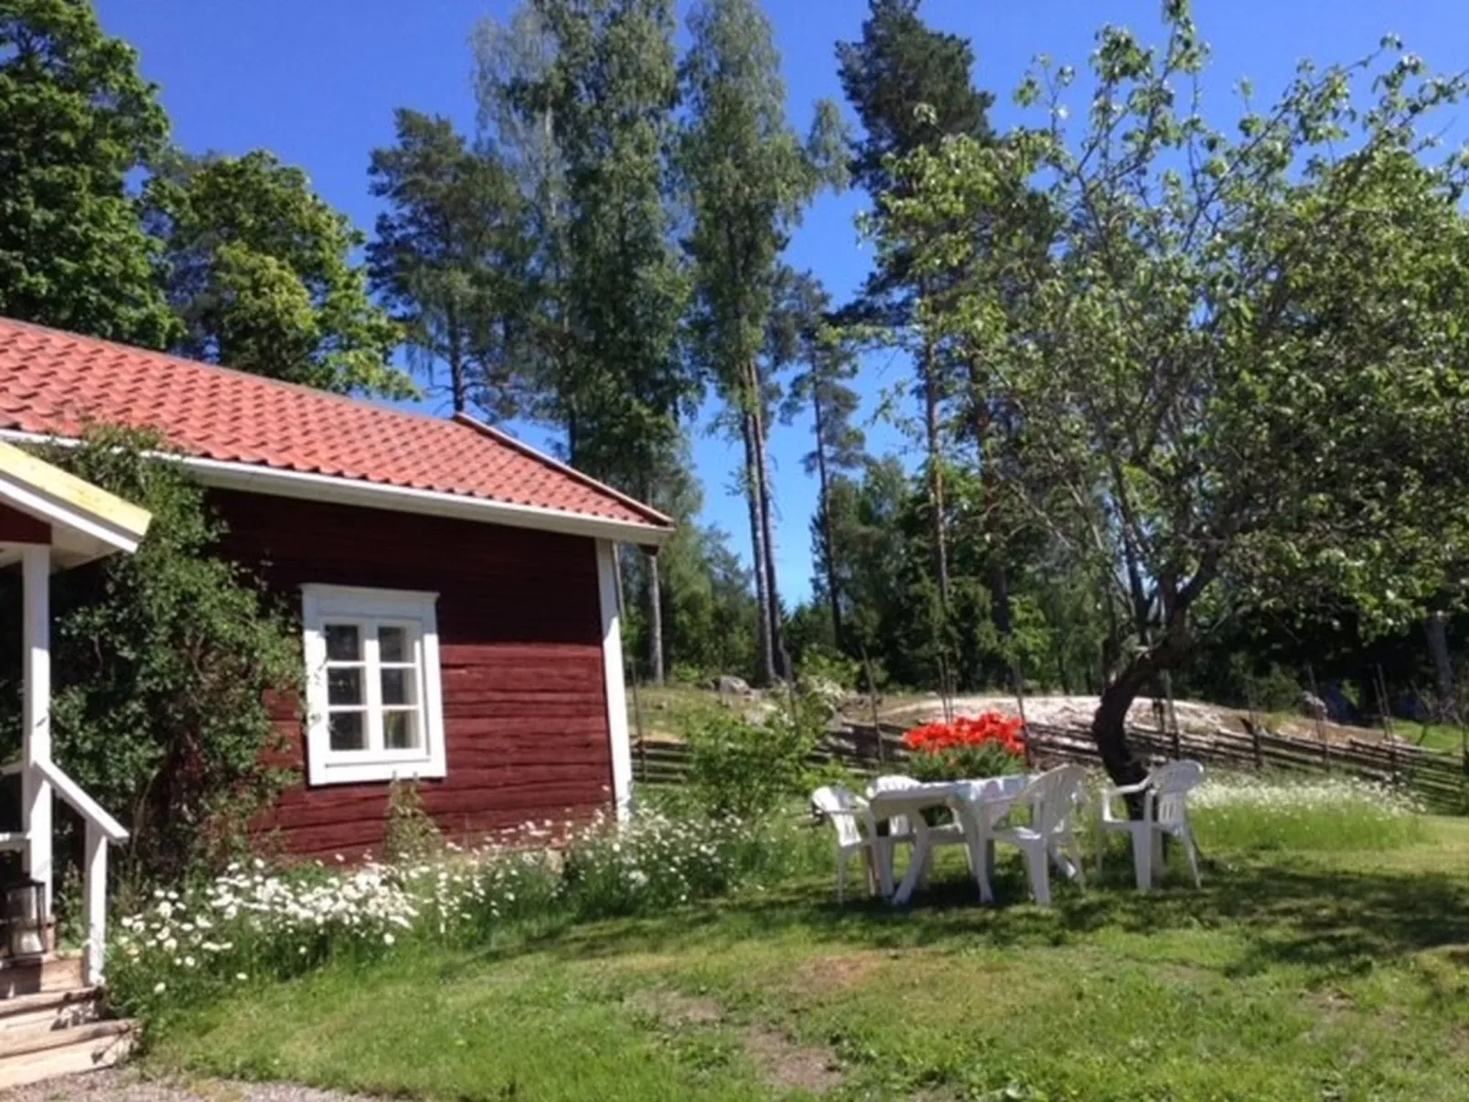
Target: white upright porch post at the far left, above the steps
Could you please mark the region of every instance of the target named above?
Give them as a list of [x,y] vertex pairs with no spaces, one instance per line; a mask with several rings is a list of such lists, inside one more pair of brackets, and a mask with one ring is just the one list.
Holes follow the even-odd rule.
[[51,548],[28,544],[21,558],[25,586],[25,702],[22,705],[21,814],[25,871],[44,889],[43,915],[51,915],[51,783],[35,768],[51,760]]

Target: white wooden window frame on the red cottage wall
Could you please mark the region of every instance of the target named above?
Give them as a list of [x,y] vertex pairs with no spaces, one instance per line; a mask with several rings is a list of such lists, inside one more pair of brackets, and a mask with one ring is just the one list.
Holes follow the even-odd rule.
[[[357,785],[375,780],[441,779],[448,773],[444,748],[444,686],[439,673],[438,594],[405,589],[364,589],[339,585],[301,586],[301,627],[306,651],[306,766],[310,785]],[[328,730],[328,623],[407,623],[417,632],[420,727],[423,745],[413,749],[332,749]],[[364,644],[366,645],[366,644]],[[364,708],[369,732],[382,730],[379,689],[364,651]],[[375,716],[376,711],[376,716]],[[380,735],[378,738],[380,741]]]

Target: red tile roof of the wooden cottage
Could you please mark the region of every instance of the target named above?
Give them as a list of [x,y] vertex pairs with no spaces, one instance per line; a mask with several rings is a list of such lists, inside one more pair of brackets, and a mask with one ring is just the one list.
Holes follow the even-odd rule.
[[667,527],[472,419],[445,420],[0,317],[0,429],[153,429],[209,460]]

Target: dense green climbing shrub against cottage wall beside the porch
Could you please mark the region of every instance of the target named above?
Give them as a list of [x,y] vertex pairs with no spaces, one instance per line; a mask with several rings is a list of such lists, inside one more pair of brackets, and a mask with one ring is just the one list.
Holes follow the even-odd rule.
[[[286,777],[269,764],[272,707],[300,689],[298,633],[238,566],[222,529],[159,442],[93,431],[47,460],[153,514],[137,554],[57,575],[51,670],[57,763],[132,832],[129,873],[178,877],[238,849]],[[16,589],[0,632],[18,654]],[[19,730],[15,692],[0,694]]]

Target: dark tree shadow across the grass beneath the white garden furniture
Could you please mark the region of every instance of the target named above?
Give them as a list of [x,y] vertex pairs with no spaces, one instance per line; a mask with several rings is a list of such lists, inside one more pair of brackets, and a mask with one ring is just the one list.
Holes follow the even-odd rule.
[[1068,945],[1105,929],[1127,933],[1228,930],[1246,942],[1227,974],[1278,964],[1329,973],[1368,971],[1375,962],[1440,946],[1469,962],[1469,885],[1437,873],[1347,871],[1284,861],[1215,864],[1203,890],[1168,886],[1138,893],[1112,876],[1105,887],[1062,887],[1056,905],[1033,907],[1015,867],[996,880],[1000,905],[978,907],[974,885],[934,883],[909,908],[880,901],[837,907],[826,882],[712,902],[660,917],[546,929],[491,957],[549,952],[564,959],[630,952],[717,952],[751,937],[798,936],[845,948],[964,951]]

